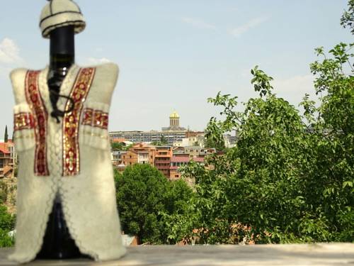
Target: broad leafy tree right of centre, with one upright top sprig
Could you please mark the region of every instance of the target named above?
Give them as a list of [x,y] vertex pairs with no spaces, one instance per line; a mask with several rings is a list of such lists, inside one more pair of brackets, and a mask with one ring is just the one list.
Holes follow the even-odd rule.
[[297,166],[305,126],[295,107],[272,93],[271,77],[258,67],[252,74],[260,97],[250,99],[244,112],[234,110],[236,97],[219,93],[209,99],[224,106],[226,115],[224,121],[210,119],[209,138],[221,142],[222,133],[237,129],[237,147],[208,157],[213,170],[192,164],[184,172],[195,177],[196,196],[190,205],[198,214],[193,228],[203,228],[201,243],[240,242],[245,232],[234,232],[238,223],[250,225],[249,238],[253,233],[262,242],[271,228],[295,228],[289,221],[302,216]]

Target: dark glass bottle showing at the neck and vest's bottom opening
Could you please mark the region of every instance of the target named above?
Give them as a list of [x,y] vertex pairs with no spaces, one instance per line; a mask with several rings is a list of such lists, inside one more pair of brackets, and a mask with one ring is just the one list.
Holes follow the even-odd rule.
[[[57,119],[57,123],[64,116],[64,111],[57,109],[57,101],[59,97],[63,97],[60,95],[60,87],[69,68],[74,64],[74,57],[74,26],[64,26],[53,30],[50,33],[50,67],[47,83],[53,108],[51,116]],[[68,97],[64,96],[64,98]],[[69,98],[68,100],[72,101]],[[82,256],[69,233],[62,211],[62,203],[57,195],[37,258],[55,260]]]

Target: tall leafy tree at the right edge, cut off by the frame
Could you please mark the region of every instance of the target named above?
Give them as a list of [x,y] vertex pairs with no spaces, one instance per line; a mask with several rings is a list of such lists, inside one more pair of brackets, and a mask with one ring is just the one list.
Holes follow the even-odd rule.
[[[316,49],[323,60],[311,65],[314,87],[317,94],[325,96],[318,108],[304,99],[313,131],[309,152],[316,158],[303,183],[312,188],[307,191],[307,202],[312,208],[317,206],[316,213],[328,221],[331,240],[342,241],[354,240],[353,47],[354,43],[340,43],[329,56],[323,48]],[[350,74],[346,74],[348,65]]]

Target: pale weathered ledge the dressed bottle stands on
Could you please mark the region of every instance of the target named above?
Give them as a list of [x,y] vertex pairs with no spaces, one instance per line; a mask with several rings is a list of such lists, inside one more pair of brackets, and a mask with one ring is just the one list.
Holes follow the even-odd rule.
[[[10,266],[0,249],[0,265]],[[354,243],[316,243],[299,245],[145,245],[127,248],[121,260],[36,260],[26,265],[354,265]]]

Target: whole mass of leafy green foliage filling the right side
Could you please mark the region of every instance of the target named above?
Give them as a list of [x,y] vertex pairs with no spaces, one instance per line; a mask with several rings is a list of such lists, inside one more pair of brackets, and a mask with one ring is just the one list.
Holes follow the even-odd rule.
[[[342,23],[353,26],[353,5]],[[199,243],[354,241],[354,44],[340,43],[310,66],[319,106],[305,95],[304,112],[273,93],[273,78],[251,70],[259,93],[236,111],[237,96],[208,101],[224,119],[211,118],[207,136],[221,143],[237,130],[235,148],[190,163],[195,196],[185,215],[169,216],[170,238]]]

